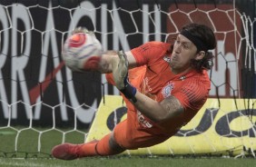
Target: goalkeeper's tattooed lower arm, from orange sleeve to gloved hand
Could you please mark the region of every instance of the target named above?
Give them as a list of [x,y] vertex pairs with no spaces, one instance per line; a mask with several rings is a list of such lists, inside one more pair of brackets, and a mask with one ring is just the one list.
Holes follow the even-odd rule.
[[141,113],[155,123],[164,123],[182,114],[184,112],[182,104],[174,96],[171,95],[162,100],[162,102],[157,102],[137,91],[136,88],[129,83],[128,63],[135,61],[131,58],[131,55],[133,57],[131,53],[127,55],[122,51],[118,52],[119,63],[116,65],[117,69],[113,68],[113,79],[117,89],[119,89]]

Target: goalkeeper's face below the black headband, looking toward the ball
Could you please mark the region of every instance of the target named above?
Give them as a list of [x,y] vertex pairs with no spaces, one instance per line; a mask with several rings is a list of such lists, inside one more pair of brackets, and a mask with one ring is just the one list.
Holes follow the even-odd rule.
[[170,65],[172,73],[180,74],[191,69],[191,60],[198,59],[196,46],[182,34],[178,34],[173,45]]

